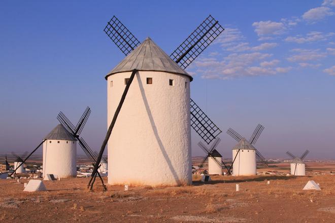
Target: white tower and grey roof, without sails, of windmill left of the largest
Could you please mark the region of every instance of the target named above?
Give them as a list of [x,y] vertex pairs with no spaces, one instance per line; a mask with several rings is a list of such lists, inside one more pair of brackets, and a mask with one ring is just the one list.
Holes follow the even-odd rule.
[[44,137],[43,177],[47,174],[57,177],[77,176],[77,140],[61,124]]

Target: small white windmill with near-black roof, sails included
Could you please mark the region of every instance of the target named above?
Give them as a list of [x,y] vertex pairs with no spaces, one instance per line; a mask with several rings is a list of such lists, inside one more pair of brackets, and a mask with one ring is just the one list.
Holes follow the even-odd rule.
[[[198,142],[198,146],[207,154],[205,159],[203,160],[202,164],[199,165],[199,167],[202,167],[205,161],[208,159],[208,173],[209,174],[222,174],[222,164],[224,167],[228,169],[228,167],[225,165],[225,163],[222,161],[221,154],[216,150],[217,145],[221,139],[217,137],[210,148],[207,148],[206,145],[202,142]],[[229,174],[229,172],[227,172]]]

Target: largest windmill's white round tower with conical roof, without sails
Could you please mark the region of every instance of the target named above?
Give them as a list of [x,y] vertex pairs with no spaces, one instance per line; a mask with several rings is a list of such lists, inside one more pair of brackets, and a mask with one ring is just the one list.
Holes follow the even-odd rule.
[[108,183],[191,184],[192,77],[147,38],[106,76],[108,126],[133,69],[108,142]]

